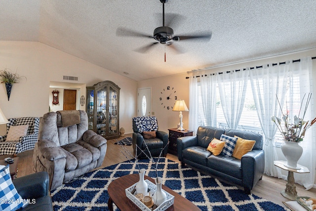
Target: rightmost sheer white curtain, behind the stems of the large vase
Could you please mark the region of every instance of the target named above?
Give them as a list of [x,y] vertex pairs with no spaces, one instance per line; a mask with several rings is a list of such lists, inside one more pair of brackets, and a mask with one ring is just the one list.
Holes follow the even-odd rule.
[[[313,93],[313,71],[312,71],[312,59],[311,57],[303,58],[300,62],[291,64],[289,71],[289,116],[293,119],[294,115],[299,115],[299,106],[303,102],[302,109],[305,108],[306,97],[303,100],[304,95]],[[314,96],[315,97],[315,96]],[[315,104],[314,98],[310,101],[308,112],[305,115],[304,120],[310,121],[315,117]],[[302,117],[302,112],[300,117]],[[307,130],[304,140],[299,144],[303,147],[303,154],[298,164],[307,167],[310,173],[295,173],[295,182],[303,185],[307,190],[312,188],[315,183],[315,168],[316,168],[316,129],[315,125]],[[287,175],[283,175],[286,178]]]

